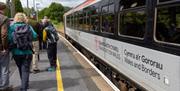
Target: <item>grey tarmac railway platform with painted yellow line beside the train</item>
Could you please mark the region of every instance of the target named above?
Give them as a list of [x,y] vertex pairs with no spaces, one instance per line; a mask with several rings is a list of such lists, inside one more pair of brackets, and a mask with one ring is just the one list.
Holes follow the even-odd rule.
[[[48,72],[46,51],[40,52],[39,73],[31,73],[28,91],[114,91],[100,74],[85,59],[60,37],[57,46],[57,69]],[[11,61],[10,84],[13,91],[20,90],[18,69]]]

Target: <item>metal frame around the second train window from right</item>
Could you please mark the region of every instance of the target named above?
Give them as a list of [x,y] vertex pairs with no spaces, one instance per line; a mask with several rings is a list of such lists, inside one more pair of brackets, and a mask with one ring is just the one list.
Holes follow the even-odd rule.
[[[126,38],[132,38],[132,39],[138,39],[138,40],[144,40],[144,36],[145,36],[145,33],[146,33],[146,23],[147,22],[145,22],[145,26],[144,26],[144,35],[143,35],[143,37],[136,37],[136,36],[130,36],[130,35],[125,35],[125,34],[121,34],[120,33],[120,23],[121,23],[121,15],[122,14],[124,14],[124,13],[127,13],[127,12],[136,12],[136,11],[144,11],[144,13],[145,13],[145,15],[146,15],[146,18],[148,18],[147,17],[147,14],[146,14],[146,8],[143,6],[140,6],[140,7],[135,7],[134,9],[132,9],[132,8],[130,8],[130,9],[126,9],[126,10],[123,10],[123,11],[119,11],[118,12],[118,36],[120,36],[120,37],[126,37]],[[145,21],[147,21],[147,19],[145,20]]]

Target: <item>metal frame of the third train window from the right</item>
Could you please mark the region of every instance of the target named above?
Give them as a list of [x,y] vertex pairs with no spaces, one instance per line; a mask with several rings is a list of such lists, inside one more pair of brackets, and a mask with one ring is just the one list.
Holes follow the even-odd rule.
[[[110,6],[113,6],[113,12],[110,11]],[[107,7],[108,8],[107,12],[102,12],[103,7]],[[107,5],[103,5],[101,7],[101,15],[100,15],[100,32],[104,33],[104,34],[114,35],[114,33],[115,33],[115,23],[114,23],[114,30],[113,30],[113,32],[106,32],[106,31],[102,30],[103,16],[106,16],[106,15],[114,15],[113,21],[115,20],[115,4],[114,3],[109,3]]]

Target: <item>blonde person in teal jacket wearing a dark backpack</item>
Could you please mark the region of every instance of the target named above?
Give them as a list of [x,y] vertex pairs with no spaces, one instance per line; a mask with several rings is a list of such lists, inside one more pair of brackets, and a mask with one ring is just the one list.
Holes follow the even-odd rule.
[[29,88],[30,65],[33,54],[32,41],[37,37],[36,32],[26,22],[26,15],[17,13],[8,32],[11,52],[21,78],[21,91],[27,91]]

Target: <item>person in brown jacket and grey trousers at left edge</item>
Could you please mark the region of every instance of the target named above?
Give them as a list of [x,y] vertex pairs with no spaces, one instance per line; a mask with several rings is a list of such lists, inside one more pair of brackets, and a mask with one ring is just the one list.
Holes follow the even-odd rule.
[[8,18],[4,16],[6,5],[0,2],[0,91],[12,91],[9,86]]

